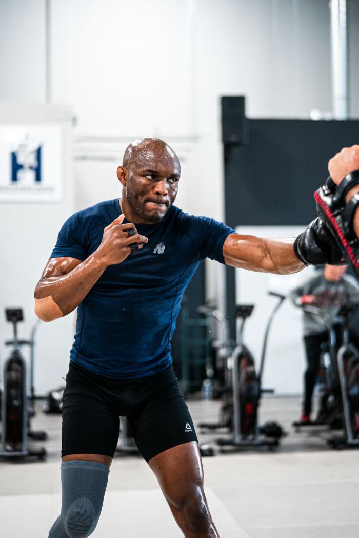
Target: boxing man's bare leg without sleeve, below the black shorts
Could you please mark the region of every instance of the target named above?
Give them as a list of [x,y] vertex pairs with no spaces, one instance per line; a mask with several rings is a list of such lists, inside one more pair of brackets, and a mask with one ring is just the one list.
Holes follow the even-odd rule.
[[218,538],[203,490],[198,443],[169,448],[148,464],[185,538]]

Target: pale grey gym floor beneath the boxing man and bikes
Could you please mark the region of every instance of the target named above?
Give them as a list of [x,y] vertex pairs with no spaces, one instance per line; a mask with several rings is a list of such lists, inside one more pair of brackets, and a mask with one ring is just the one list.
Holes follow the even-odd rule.
[[[0,536],[47,538],[60,512],[61,416],[35,416],[45,429],[46,462],[0,462]],[[190,401],[195,424],[216,420],[218,402]],[[221,538],[357,538],[358,453],[326,446],[324,430],[291,426],[300,398],[263,398],[260,422],[276,420],[289,435],[280,447],[203,459],[205,490]],[[202,435],[200,443],[216,435]],[[94,538],[182,536],[147,464],[115,456]]]

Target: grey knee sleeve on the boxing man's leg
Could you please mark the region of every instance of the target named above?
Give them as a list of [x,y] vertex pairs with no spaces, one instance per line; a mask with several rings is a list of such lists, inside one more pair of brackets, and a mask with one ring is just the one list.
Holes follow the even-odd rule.
[[87,538],[99,519],[110,469],[96,462],[61,463],[61,514],[49,538]]

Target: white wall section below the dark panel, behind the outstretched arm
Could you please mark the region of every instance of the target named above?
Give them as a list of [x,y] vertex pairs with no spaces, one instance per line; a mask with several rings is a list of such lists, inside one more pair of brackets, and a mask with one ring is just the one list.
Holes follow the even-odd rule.
[[[236,231],[259,237],[296,237],[304,226],[238,226]],[[243,341],[253,352],[260,366],[264,330],[277,299],[269,291],[288,295],[313,276],[308,267],[292,275],[277,275],[236,270],[236,303],[255,305],[245,325]],[[303,390],[305,354],[302,312],[286,299],[272,322],[263,371],[263,387],[274,388],[277,394],[293,394]]]

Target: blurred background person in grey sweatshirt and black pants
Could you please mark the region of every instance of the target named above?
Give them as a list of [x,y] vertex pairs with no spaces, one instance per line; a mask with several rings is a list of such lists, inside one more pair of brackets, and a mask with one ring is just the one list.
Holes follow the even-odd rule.
[[[329,316],[335,326],[338,310],[344,303],[359,303],[359,286],[344,276],[345,265],[326,264],[324,271],[298,286],[291,292],[291,299],[297,306],[313,305]],[[340,342],[340,330],[336,328]],[[351,339],[357,344],[356,335]],[[304,311],[304,343],[307,356],[307,369],[304,374],[304,400],[300,422],[310,423],[312,396],[319,370],[322,344],[328,342],[328,329],[321,316]]]

